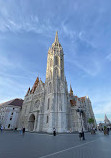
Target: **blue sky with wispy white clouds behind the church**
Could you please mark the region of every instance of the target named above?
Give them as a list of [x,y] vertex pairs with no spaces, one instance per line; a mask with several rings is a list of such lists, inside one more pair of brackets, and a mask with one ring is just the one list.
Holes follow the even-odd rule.
[[111,119],[111,1],[0,0],[0,103],[24,98],[45,81],[47,52],[58,30],[65,75],[89,96],[97,121]]

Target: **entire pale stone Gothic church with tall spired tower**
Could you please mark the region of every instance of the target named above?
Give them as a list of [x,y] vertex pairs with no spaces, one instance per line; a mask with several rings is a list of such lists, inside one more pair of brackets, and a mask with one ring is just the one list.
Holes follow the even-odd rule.
[[[78,110],[79,109],[79,110]],[[82,111],[82,113],[81,113]],[[19,128],[27,131],[58,133],[88,130],[88,119],[96,120],[89,97],[68,92],[64,73],[64,52],[56,32],[55,41],[48,50],[45,83],[37,77],[28,89],[19,119]]]

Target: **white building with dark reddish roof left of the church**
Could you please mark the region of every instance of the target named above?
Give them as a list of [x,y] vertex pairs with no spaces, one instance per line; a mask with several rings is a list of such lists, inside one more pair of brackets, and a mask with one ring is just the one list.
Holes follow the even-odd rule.
[[18,98],[0,104],[0,125],[4,129],[17,128],[22,104],[23,100]]

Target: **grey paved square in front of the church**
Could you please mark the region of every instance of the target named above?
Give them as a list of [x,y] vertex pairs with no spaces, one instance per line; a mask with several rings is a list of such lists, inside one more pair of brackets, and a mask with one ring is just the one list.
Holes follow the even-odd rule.
[[111,158],[111,135],[0,133],[0,158]]

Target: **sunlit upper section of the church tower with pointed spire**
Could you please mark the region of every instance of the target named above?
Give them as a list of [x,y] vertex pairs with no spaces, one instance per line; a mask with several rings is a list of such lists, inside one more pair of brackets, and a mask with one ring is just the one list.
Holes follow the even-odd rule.
[[49,48],[47,57],[46,80],[59,78],[64,81],[64,53],[56,32],[55,41]]

